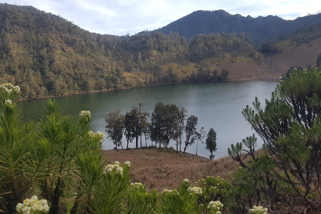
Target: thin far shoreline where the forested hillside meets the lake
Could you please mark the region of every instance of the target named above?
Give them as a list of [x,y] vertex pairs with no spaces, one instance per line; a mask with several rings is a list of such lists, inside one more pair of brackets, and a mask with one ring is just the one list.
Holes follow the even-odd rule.
[[228,80],[222,80],[222,81],[204,81],[204,82],[184,82],[184,83],[168,83],[168,84],[154,84],[154,85],[147,85],[147,86],[135,86],[130,88],[124,88],[124,89],[106,89],[106,90],[99,90],[99,91],[91,91],[91,92],[78,92],[78,93],[72,93],[72,94],[66,94],[66,95],[60,95],[60,96],[46,96],[46,97],[38,97],[38,98],[32,98],[32,99],[21,99],[17,100],[16,102],[24,102],[24,101],[31,101],[31,100],[41,100],[41,99],[49,99],[49,98],[55,98],[55,97],[66,97],[66,96],[72,96],[72,95],[80,95],[80,94],[89,94],[89,93],[100,93],[100,92],[108,92],[108,91],[116,91],[116,90],[126,90],[126,89],[140,89],[145,87],[153,87],[153,86],[169,86],[169,85],[179,85],[179,84],[190,84],[190,83],[216,83],[216,82],[232,82],[232,81],[263,81],[263,82],[280,82],[280,80],[276,79],[251,79],[251,78],[233,78]]

